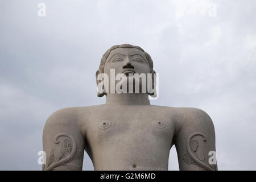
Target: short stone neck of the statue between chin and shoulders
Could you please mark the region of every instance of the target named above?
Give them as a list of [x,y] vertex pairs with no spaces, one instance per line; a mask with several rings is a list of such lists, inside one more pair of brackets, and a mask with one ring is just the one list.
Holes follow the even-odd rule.
[[106,94],[106,104],[114,105],[150,105],[147,93]]

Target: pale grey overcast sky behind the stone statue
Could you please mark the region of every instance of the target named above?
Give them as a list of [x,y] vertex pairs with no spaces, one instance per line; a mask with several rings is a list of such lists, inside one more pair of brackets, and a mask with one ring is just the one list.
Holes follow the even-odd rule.
[[[255,17],[254,0],[0,1],[0,169],[42,169],[48,116],[104,104],[101,56],[129,43],[159,73],[151,104],[203,109],[215,126],[218,169],[255,170]],[[93,169],[87,155],[83,169]],[[179,169],[175,147],[169,169]]]

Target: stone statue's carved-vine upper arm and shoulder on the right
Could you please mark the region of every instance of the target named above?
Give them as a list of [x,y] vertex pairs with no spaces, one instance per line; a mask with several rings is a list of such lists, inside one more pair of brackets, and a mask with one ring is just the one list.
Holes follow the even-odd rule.
[[200,109],[184,108],[174,139],[180,170],[217,170],[212,119]]

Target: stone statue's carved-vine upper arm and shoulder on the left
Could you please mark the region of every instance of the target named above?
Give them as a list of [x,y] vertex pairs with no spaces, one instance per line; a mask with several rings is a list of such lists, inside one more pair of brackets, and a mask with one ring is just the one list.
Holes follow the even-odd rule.
[[76,118],[76,110],[71,107],[56,111],[47,119],[43,130],[43,170],[82,169],[84,137]]

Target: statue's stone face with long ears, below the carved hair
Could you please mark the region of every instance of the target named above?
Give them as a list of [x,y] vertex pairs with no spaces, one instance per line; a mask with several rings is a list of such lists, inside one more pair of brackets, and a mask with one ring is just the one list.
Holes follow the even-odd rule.
[[[108,93],[154,94],[155,75],[143,51],[115,48],[105,61],[104,73],[96,72],[98,96]],[[104,78],[102,81],[102,78]]]

